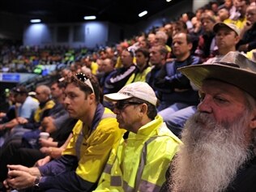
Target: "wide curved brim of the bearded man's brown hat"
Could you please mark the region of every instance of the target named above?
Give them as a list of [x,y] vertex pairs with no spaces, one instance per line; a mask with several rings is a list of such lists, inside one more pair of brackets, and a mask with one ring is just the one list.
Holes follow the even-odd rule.
[[221,64],[201,64],[194,66],[185,66],[178,69],[182,74],[196,87],[202,87],[206,79],[215,79],[224,83],[232,84],[248,92],[256,98],[256,74],[249,70],[243,70],[238,67],[224,66]]

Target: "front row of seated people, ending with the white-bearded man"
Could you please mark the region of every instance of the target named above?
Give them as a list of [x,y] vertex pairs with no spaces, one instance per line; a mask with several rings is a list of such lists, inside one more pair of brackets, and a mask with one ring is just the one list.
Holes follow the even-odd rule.
[[2,190],[254,191],[255,65],[229,52],[177,69],[200,96],[181,140],[145,82],[105,94],[113,110],[102,105],[92,74],[38,85],[36,98],[16,87],[20,105],[10,112],[18,116],[2,117]]

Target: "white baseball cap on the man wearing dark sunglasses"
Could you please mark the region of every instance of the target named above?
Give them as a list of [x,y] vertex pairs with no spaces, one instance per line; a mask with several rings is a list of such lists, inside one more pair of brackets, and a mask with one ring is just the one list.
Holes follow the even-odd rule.
[[156,106],[157,98],[154,90],[149,86],[149,84],[144,82],[135,82],[122,87],[119,92],[107,94],[104,96],[105,100],[117,101],[126,100],[132,97],[145,100],[152,105]]

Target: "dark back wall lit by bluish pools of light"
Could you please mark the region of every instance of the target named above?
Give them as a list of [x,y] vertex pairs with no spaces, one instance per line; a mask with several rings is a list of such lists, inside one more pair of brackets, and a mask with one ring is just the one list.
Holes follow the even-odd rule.
[[[202,1],[204,2],[204,1]],[[72,47],[113,45],[125,38],[148,32],[153,26],[160,27],[182,13],[192,11],[193,1],[181,1],[134,25],[108,22],[84,22],[65,24],[29,24],[28,18],[2,13],[0,15],[0,38],[23,41],[23,45],[70,45]],[[25,24],[24,24],[25,23]]]

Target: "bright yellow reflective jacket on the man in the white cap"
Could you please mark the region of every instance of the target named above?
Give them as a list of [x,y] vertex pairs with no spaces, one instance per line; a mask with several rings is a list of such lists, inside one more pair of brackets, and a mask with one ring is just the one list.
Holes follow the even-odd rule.
[[156,116],[111,151],[95,191],[159,191],[179,144],[162,117]]

